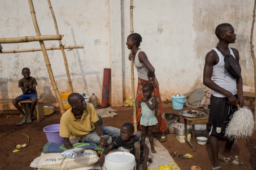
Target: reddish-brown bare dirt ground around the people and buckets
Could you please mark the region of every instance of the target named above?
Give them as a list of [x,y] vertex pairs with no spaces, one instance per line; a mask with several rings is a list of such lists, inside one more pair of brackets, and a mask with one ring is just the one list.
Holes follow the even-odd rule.
[[[165,113],[179,114],[181,110],[173,110],[172,104],[163,104]],[[118,110],[118,116],[103,118],[103,125],[114,126],[120,128],[125,122],[130,122],[133,115],[133,108],[112,107]],[[184,107],[183,110],[190,108]],[[202,111],[202,108],[194,109]],[[11,115],[8,116],[8,115]],[[8,116],[8,117],[7,117]],[[0,113],[0,169],[34,169],[29,165],[34,158],[40,156],[44,144],[47,142],[45,132],[42,130],[44,127],[52,124],[59,124],[60,111],[56,110],[55,113],[48,115],[44,120],[37,123],[36,119],[32,124],[25,124],[23,126],[16,126],[16,123],[22,120],[17,112],[5,111]],[[183,120],[181,118],[181,123]],[[25,136],[29,136],[30,141]],[[160,134],[154,134],[154,137],[159,139]],[[202,170],[211,168],[211,154],[209,143],[206,145],[196,144],[196,152],[193,152],[187,143],[180,143],[175,134],[167,135],[167,142],[162,143],[169,153],[176,152],[177,154],[189,153],[193,155],[189,159],[178,159],[174,157],[176,163],[182,170],[189,170],[191,165],[198,165]],[[26,148],[20,148],[19,152],[13,153],[17,144],[26,143]],[[220,145],[224,147],[224,141],[220,141]],[[232,165],[222,164],[222,169],[256,169],[256,135],[248,139],[238,139],[233,145],[232,155],[238,155],[239,159],[244,162],[243,166],[236,167]],[[153,160],[154,161],[154,160]],[[168,163],[168,162],[166,162]]]

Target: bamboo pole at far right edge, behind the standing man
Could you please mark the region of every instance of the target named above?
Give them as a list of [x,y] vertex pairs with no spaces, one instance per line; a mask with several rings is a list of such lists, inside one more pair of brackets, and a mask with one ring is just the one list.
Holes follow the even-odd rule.
[[[253,15],[252,15],[252,24],[251,24],[251,35],[250,35],[250,47],[251,47],[251,57],[253,60],[253,66],[254,66],[254,92],[256,94],[256,59],[254,55],[254,50],[253,47],[254,45],[252,44],[252,36],[253,36],[253,29],[254,29],[254,22],[255,22],[255,7],[256,7],[256,0],[254,0],[254,7],[253,7]],[[256,95],[255,95],[256,99]],[[256,104],[254,102],[254,130],[256,130]]]

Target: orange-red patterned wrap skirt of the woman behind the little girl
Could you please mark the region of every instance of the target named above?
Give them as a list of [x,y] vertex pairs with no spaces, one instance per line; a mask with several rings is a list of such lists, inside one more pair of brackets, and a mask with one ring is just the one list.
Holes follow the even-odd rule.
[[[159,92],[159,84],[158,81],[155,77],[152,78],[150,81],[146,81],[143,79],[138,78],[138,87],[137,87],[137,96],[136,96],[136,111],[137,111],[137,124],[138,124],[138,129],[140,129],[140,117],[141,117],[141,107],[138,107],[137,102],[140,102],[143,93],[142,93],[142,86],[146,83],[152,83],[154,86],[154,92],[153,95],[157,99],[157,105],[155,108],[155,116],[157,118],[158,124],[154,127],[153,132],[155,133],[162,133],[167,130],[167,120],[164,114],[164,110],[162,108],[161,104],[161,98],[160,98],[160,92]],[[134,123],[134,117],[132,119],[132,124]]]

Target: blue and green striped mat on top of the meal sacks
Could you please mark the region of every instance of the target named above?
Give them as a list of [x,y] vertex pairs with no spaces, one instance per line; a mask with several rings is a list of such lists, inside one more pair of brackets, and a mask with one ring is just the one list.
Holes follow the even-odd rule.
[[[99,145],[91,142],[75,142],[72,144],[74,148],[91,149],[95,151],[104,151]],[[47,142],[42,148],[42,153],[59,153],[68,150],[63,144]]]

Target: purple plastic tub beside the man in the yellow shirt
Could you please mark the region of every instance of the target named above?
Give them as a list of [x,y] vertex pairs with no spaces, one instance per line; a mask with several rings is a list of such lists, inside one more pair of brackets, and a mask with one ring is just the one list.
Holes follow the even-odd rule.
[[64,138],[59,136],[59,124],[49,125],[43,130],[48,142],[63,144]]

